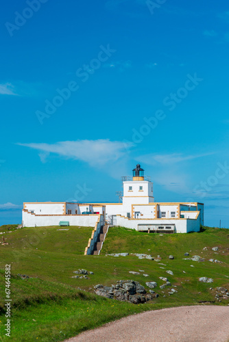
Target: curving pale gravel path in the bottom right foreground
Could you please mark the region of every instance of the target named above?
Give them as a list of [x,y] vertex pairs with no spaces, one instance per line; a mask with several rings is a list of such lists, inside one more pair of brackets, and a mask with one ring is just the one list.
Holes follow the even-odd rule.
[[180,306],[138,313],[65,342],[226,342],[229,306]]

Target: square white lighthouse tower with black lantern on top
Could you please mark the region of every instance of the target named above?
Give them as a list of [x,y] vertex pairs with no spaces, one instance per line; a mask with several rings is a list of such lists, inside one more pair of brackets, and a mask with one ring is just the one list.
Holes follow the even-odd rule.
[[[123,182],[123,211],[132,216],[132,205],[149,205],[154,202],[153,183],[145,180],[139,164],[133,170],[132,181]],[[138,218],[138,213],[134,213]]]

